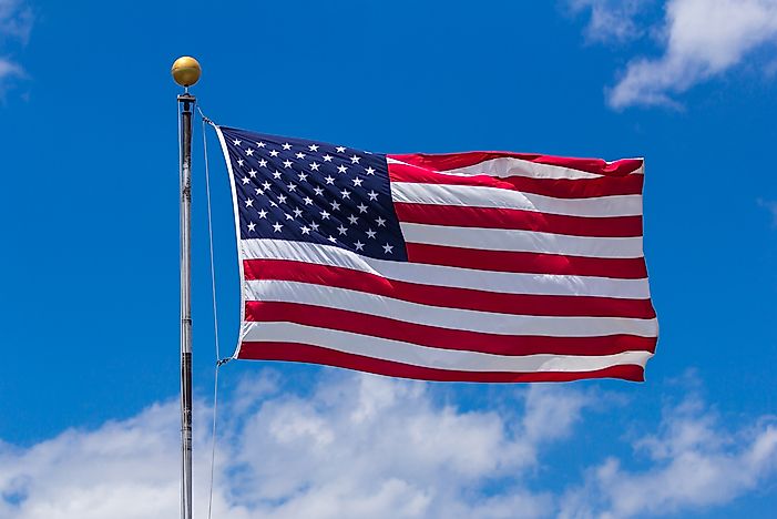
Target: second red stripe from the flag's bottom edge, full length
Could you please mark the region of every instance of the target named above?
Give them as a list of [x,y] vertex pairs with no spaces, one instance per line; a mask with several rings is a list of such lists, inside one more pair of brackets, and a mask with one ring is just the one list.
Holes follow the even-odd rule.
[[247,301],[249,323],[296,323],[316,328],[338,329],[370,337],[400,340],[439,349],[482,352],[493,355],[614,355],[623,352],[655,352],[656,337],[607,335],[601,337],[548,337],[499,335],[405,320],[339,308],[299,303]]

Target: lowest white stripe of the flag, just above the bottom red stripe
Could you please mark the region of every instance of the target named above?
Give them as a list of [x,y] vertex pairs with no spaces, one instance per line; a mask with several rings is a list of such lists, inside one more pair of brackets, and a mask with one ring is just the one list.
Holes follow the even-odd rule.
[[245,342],[287,342],[319,346],[351,355],[379,358],[436,369],[461,372],[593,372],[631,364],[644,367],[650,352],[623,352],[615,355],[493,355],[480,352],[430,348],[400,340],[293,323],[246,323]]

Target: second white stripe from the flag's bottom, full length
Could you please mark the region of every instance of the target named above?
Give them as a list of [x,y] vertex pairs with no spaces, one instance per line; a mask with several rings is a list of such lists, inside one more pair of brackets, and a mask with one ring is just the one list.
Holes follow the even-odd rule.
[[285,279],[246,281],[245,291],[248,301],[316,305],[406,323],[484,334],[548,337],[600,337],[604,335],[655,337],[658,334],[656,319],[511,315],[447,308],[347,288]]

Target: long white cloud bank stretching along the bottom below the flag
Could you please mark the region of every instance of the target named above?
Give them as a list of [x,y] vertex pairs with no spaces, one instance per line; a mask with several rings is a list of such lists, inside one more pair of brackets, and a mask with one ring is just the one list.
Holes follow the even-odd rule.
[[[247,378],[219,411],[214,517],[628,518],[722,506],[777,472],[777,428],[734,430],[695,397],[632,441],[646,468],[611,457],[571,486],[543,461],[575,446],[587,413],[617,406],[574,386],[531,386],[463,410],[429,385],[338,373],[309,393]],[[612,409],[611,409],[612,410]],[[208,410],[198,403],[195,430]],[[178,511],[177,403],[27,448],[0,444],[0,517],[170,518]],[[207,510],[208,438],[195,438],[195,517]],[[643,464],[644,465],[644,464]],[[553,478],[551,478],[553,479]]]

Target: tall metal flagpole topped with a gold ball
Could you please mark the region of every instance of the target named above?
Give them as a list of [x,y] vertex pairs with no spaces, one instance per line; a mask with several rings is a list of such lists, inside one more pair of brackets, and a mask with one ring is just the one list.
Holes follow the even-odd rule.
[[192,519],[192,108],[188,88],[197,82],[200,63],[183,57],[173,63],[173,79],[184,88],[178,100],[181,139],[181,518]]

